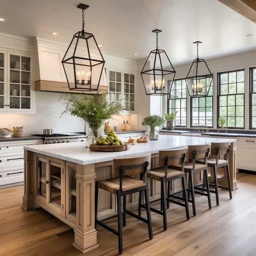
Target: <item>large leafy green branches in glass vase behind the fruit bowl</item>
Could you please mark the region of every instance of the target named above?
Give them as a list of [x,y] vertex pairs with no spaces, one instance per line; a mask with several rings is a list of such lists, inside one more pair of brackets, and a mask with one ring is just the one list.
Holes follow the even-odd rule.
[[[70,112],[86,122],[86,146],[96,143],[98,137],[104,135],[104,122],[115,115],[120,115],[122,106],[120,102],[110,102],[108,94],[84,94],[76,96],[67,94],[60,98],[66,103],[63,114]],[[89,128],[89,129],[88,129]]]

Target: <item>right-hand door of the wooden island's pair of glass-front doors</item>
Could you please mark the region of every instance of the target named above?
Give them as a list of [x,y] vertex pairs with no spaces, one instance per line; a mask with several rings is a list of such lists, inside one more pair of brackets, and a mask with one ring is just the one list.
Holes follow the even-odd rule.
[[65,176],[64,164],[61,160],[50,159],[49,167],[49,204],[57,214],[64,216],[64,200],[65,200]]

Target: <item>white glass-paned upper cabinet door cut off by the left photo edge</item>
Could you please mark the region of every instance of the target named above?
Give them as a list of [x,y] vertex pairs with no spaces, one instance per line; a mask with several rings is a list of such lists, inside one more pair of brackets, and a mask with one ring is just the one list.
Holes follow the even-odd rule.
[[6,111],[6,70],[7,70],[7,52],[0,50],[0,111]]

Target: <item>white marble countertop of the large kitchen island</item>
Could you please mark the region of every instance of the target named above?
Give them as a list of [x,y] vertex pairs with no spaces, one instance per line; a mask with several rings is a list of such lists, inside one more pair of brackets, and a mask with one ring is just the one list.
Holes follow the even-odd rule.
[[148,143],[132,145],[130,150],[121,152],[93,152],[86,148],[86,142],[72,142],[59,144],[44,144],[24,147],[25,150],[36,152],[42,155],[74,162],[76,164],[94,164],[111,161],[114,158],[127,158],[142,156],[144,154],[155,154],[159,150],[179,148],[181,146],[211,143],[211,142],[236,142],[236,139],[200,138],[190,136],[160,135],[159,140]]

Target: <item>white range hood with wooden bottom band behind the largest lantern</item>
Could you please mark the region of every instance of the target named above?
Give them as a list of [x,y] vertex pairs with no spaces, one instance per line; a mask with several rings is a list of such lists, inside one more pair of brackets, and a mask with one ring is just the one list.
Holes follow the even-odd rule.
[[[108,91],[106,71],[102,72],[99,90],[96,92],[72,91],[68,88],[61,60],[68,44],[36,37],[35,91],[95,94]],[[83,52],[81,50],[80,54]],[[98,54],[95,52],[95,54]]]

